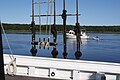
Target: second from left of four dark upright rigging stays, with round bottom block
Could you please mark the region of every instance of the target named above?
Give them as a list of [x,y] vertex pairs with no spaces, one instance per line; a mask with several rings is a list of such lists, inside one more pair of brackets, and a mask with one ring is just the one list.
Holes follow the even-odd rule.
[[56,0],[54,0],[54,24],[53,24],[53,28],[51,30],[52,34],[53,34],[53,41],[54,41],[54,47],[53,50],[51,52],[53,58],[56,58],[58,55],[58,51],[56,49],[56,40],[57,40],[57,27],[56,27]]

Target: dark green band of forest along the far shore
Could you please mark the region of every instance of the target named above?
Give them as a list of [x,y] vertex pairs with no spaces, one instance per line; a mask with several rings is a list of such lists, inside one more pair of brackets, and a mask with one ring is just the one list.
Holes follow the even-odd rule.
[[[6,32],[31,32],[30,24],[7,24],[3,23]],[[47,28],[46,28],[47,27]],[[41,25],[42,31],[49,31],[53,25]],[[63,31],[63,25],[56,25],[57,31]],[[74,25],[66,25],[66,31],[74,29]],[[40,31],[40,26],[35,25],[36,32]],[[120,26],[80,26],[80,29],[85,29],[86,32],[97,33],[120,33]]]

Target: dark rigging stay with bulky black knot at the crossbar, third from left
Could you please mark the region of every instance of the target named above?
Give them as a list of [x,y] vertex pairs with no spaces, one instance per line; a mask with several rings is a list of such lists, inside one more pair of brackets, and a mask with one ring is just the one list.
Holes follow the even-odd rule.
[[63,19],[63,41],[64,41],[64,52],[63,56],[66,59],[67,58],[67,48],[66,48],[66,15],[67,11],[65,10],[65,0],[63,0],[63,13],[62,13],[62,19]]

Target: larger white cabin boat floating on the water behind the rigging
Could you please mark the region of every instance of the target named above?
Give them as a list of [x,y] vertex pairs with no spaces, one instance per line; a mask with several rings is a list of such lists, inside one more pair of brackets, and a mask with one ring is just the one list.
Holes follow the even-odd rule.
[[[86,34],[85,30],[81,30],[81,39],[87,39],[89,36]],[[76,39],[75,31],[70,30],[68,33],[66,33],[66,38],[68,39]]]

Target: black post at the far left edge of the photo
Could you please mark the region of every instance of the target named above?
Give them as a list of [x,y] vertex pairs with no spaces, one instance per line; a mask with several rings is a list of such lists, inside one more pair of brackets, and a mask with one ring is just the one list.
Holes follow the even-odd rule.
[[4,74],[4,58],[3,58],[3,45],[2,45],[2,33],[1,33],[1,21],[0,21],[0,80],[5,80]]

